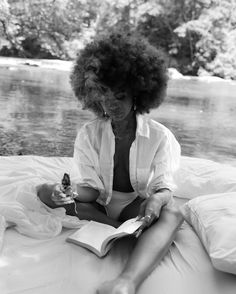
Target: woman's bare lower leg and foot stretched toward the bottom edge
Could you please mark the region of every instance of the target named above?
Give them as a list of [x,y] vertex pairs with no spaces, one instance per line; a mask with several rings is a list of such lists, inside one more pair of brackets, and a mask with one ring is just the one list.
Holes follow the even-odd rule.
[[182,221],[174,205],[164,207],[160,218],[139,237],[122,273],[103,283],[97,293],[134,294],[168,251]]

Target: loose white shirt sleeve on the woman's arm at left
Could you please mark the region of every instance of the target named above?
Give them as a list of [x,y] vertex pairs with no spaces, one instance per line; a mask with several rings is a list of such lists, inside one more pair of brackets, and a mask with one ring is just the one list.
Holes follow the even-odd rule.
[[84,127],[78,132],[75,140],[74,160],[78,168],[76,183],[99,190],[100,194],[103,194],[105,189],[99,177],[98,152],[93,146],[91,136]]

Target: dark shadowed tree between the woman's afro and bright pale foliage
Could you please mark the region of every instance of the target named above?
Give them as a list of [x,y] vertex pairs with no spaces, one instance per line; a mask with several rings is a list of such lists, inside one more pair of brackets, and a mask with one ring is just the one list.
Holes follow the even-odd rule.
[[[138,30],[154,46],[164,48],[169,65],[184,74],[196,74],[195,44],[199,36],[190,31],[181,35],[181,26],[198,19],[206,6],[201,0],[159,0],[159,10],[145,13],[139,21]],[[180,28],[180,31],[178,29]]]

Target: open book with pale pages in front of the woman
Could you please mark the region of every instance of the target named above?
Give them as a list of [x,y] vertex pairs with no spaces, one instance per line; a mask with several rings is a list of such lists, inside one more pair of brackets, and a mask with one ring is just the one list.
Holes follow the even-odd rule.
[[85,247],[102,257],[107,254],[115,240],[137,233],[142,224],[143,221],[137,218],[127,220],[118,228],[90,221],[66,241]]

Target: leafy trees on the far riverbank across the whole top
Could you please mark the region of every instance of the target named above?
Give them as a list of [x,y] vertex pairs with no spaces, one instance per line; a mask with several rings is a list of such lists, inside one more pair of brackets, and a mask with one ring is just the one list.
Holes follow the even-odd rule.
[[235,0],[1,0],[0,54],[74,59],[111,30],[146,37],[183,74],[236,79]]

